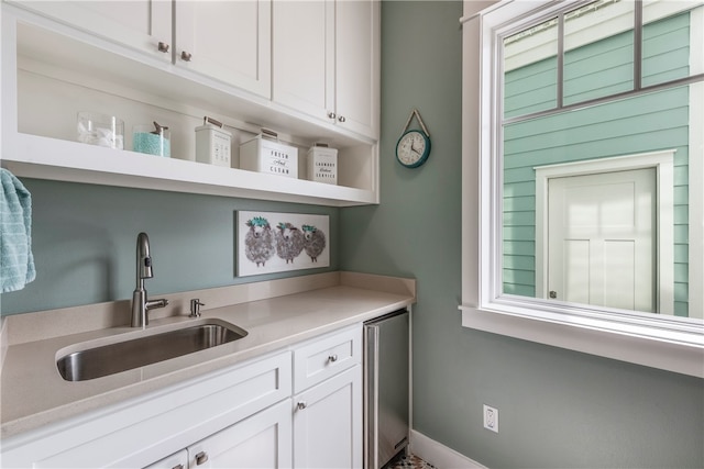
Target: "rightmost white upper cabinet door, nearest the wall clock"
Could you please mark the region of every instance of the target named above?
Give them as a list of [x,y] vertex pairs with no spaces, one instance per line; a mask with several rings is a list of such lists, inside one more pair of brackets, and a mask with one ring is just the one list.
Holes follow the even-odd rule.
[[338,122],[378,138],[380,2],[338,1],[336,19]]

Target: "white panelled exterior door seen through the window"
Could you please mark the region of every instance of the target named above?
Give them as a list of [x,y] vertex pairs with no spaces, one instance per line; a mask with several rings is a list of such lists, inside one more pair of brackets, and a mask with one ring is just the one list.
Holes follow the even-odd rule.
[[548,298],[657,310],[656,171],[554,178],[548,199]]

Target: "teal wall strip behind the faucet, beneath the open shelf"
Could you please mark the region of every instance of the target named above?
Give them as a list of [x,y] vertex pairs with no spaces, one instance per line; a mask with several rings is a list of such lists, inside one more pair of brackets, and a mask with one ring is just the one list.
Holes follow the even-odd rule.
[[[150,236],[150,295],[338,270],[339,209],[22,179],[32,193],[36,280],[2,314],[132,298],[136,235]],[[235,211],[330,215],[330,268],[235,277]]]

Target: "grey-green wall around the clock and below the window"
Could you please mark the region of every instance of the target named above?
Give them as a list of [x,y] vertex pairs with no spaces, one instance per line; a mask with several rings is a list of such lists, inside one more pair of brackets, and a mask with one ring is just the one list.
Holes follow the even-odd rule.
[[[383,2],[382,204],[341,212],[342,268],[418,280],[415,429],[490,468],[704,467],[703,380],[461,326],[461,15]],[[394,147],[414,107],[433,146],[406,169]]]

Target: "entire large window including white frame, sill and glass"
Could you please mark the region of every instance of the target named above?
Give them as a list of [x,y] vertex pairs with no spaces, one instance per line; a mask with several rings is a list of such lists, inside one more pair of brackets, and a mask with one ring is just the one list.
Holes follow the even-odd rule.
[[703,4],[466,16],[463,326],[703,376]]

